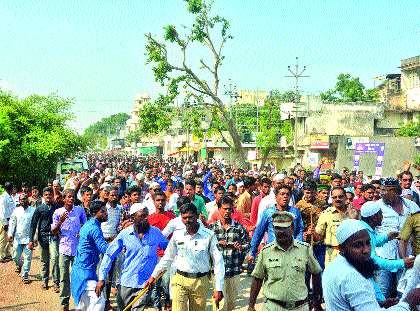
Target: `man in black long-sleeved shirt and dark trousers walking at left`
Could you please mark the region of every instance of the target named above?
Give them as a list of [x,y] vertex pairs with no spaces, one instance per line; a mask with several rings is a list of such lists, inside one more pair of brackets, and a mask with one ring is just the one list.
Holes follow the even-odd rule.
[[58,293],[60,289],[60,271],[58,267],[58,235],[51,235],[52,216],[60,205],[53,202],[53,189],[44,188],[43,197],[45,203],[38,206],[34,212],[31,222],[30,240],[28,248],[33,250],[35,247],[34,237],[38,229],[38,242],[41,248],[41,267],[42,267],[42,288],[48,289],[48,279],[50,275],[50,258],[52,261],[52,279],[55,284],[54,290]]

